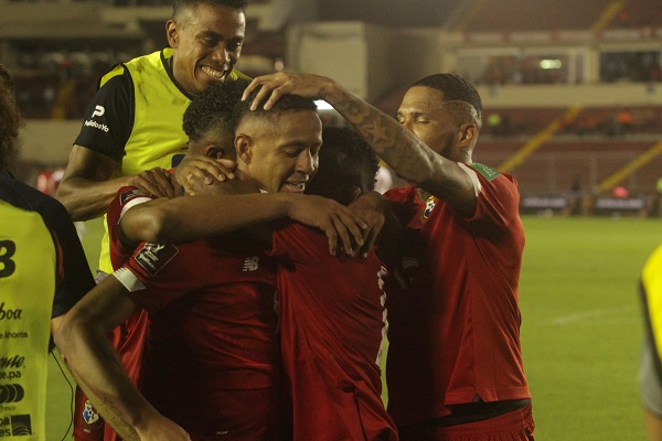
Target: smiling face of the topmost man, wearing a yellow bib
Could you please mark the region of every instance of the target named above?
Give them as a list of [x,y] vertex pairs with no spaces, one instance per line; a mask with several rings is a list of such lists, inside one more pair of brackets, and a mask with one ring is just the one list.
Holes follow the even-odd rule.
[[239,9],[200,3],[180,11],[166,29],[174,50],[172,74],[186,92],[201,94],[237,63],[246,17]]

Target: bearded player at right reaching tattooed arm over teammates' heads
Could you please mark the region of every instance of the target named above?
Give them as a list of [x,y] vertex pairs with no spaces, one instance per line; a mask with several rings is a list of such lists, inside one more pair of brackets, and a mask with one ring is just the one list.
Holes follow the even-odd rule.
[[286,94],[324,99],[410,183],[385,195],[405,226],[386,369],[401,438],[533,439],[517,306],[520,195],[513,176],[472,161],[482,126],[476,88],[452,74],[425,77],[397,121],[321,76],[260,76],[244,96],[258,88],[254,109]]

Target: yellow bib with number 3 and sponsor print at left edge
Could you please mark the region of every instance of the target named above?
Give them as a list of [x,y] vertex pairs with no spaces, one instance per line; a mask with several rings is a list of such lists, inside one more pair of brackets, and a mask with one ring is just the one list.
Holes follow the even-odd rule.
[[57,255],[39,213],[0,201],[0,439],[45,441]]

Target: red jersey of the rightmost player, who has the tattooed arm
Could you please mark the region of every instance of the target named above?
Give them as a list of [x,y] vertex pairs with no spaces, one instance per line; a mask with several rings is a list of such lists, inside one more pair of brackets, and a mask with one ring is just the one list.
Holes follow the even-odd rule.
[[398,280],[387,290],[388,411],[398,427],[447,406],[531,398],[520,346],[517,288],[524,230],[514,178],[470,164],[478,192],[467,218],[415,187],[385,194],[405,226]]

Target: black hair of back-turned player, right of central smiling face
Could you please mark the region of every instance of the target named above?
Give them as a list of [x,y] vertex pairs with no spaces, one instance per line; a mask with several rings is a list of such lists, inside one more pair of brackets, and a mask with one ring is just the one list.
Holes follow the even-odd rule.
[[375,189],[380,160],[367,142],[348,127],[324,127],[317,174],[307,193],[349,203],[355,187],[365,193]]

